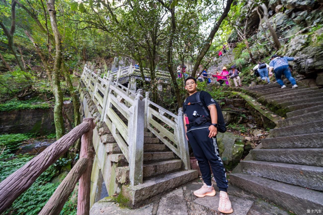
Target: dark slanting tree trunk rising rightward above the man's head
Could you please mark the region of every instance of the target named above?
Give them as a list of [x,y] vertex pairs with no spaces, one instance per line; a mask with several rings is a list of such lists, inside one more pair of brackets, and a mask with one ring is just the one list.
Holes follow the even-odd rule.
[[193,71],[192,71],[192,76],[195,76],[195,73],[197,71],[197,69],[199,68],[199,65],[203,59],[203,57],[205,56],[206,52],[209,50],[211,44],[212,44],[212,40],[214,38],[215,33],[218,31],[222,21],[224,20],[225,17],[227,17],[229,10],[231,8],[231,4],[232,4],[233,0],[227,0],[226,2],[226,6],[224,8],[224,11],[221,15],[221,17],[219,18],[219,20],[216,22],[216,24],[214,25],[211,33],[209,34],[209,36],[207,37],[206,41],[205,41],[205,45],[202,48],[202,51],[199,53],[199,55],[197,56],[196,59],[196,63],[194,65]]

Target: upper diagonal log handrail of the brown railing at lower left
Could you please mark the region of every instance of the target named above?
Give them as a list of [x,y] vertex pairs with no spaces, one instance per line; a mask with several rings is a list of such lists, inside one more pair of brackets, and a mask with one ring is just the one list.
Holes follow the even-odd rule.
[[48,146],[43,152],[27,162],[23,167],[9,175],[0,183],[0,214],[12,202],[26,191],[47,168],[59,157],[67,152],[68,148],[78,140],[81,135],[88,132],[91,124],[83,122],[65,134],[58,141]]

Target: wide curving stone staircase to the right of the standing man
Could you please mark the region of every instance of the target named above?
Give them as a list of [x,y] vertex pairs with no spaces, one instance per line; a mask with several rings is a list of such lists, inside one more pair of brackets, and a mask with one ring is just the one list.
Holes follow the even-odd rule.
[[286,117],[230,174],[230,182],[296,214],[323,209],[323,89],[243,88]]

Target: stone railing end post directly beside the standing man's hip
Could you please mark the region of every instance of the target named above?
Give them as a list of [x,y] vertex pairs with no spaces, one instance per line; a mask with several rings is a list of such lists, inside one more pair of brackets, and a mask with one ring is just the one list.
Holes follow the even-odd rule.
[[186,139],[185,128],[184,128],[183,108],[178,109],[177,126],[178,126],[178,146],[181,153],[181,159],[183,161],[184,169],[190,170],[191,169],[190,155],[188,152],[188,142]]

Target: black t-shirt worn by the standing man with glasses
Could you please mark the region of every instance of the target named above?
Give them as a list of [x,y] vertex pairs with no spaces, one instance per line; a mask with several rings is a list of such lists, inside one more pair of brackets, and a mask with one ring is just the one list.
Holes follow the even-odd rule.
[[[185,100],[184,103],[183,103],[183,112],[186,113],[186,116],[188,117],[188,120],[190,122],[193,122],[196,119],[195,116],[193,116],[194,111],[197,111],[197,113],[199,115],[202,115],[202,116],[206,115],[203,108],[201,107],[201,105],[199,105],[197,103],[196,93],[194,93],[193,95],[187,97],[186,98],[187,102],[185,102],[186,101]],[[200,99],[201,99],[201,102],[204,104],[204,107],[205,107],[206,111],[208,111],[208,108],[207,108],[208,106],[213,105],[213,104],[215,105],[214,99],[212,98],[212,96],[208,92],[201,91]],[[194,102],[196,102],[196,103],[187,105],[186,108],[185,108],[185,103],[188,104],[188,103],[194,103]],[[202,125],[192,126],[188,130],[191,130],[193,128],[206,127],[206,126],[210,126],[210,125],[211,125],[211,122],[206,122],[205,124],[202,124]]]

